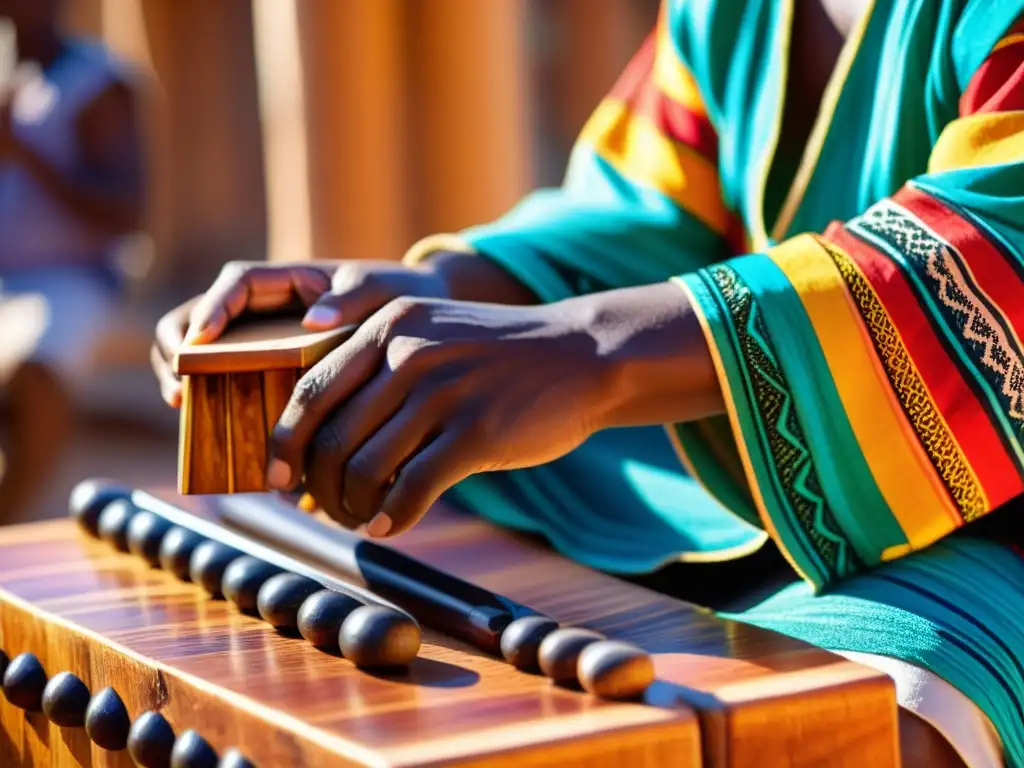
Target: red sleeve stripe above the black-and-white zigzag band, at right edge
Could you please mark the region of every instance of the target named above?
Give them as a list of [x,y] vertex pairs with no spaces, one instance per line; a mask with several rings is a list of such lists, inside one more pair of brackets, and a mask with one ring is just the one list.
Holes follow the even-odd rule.
[[1024,281],[1007,256],[974,224],[921,189],[905,186],[893,200],[959,251],[978,287],[999,307],[1017,337],[1024,337]]

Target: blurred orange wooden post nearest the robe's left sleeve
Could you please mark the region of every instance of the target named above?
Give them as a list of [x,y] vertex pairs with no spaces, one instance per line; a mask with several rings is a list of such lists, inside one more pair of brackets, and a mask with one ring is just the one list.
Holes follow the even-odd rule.
[[410,2],[416,233],[504,213],[531,186],[522,0]]

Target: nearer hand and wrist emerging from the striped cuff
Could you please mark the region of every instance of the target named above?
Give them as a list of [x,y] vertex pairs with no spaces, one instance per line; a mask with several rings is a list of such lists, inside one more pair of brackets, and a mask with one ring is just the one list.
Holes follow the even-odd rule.
[[528,307],[399,299],[299,382],[268,481],[304,477],[339,522],[394,534],[471,474],[552,461],[605,427],[713,413],[715,381],[670,284]]

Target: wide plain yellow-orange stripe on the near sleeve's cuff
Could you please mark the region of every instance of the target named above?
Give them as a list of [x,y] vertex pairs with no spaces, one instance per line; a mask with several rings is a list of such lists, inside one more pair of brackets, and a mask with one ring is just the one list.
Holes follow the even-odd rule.
[[800,296],[860,451],[907,541],[925,546],[948,534],[959,515],[900,409],[831,258],[809,234],[769,255]]

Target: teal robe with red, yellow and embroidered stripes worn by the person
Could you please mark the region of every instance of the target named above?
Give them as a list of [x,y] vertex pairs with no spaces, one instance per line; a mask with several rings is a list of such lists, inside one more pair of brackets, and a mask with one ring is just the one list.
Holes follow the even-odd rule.
[[950,537],[1024,492],[1024,1],[876,0],[772,200],[797,1],[666,0],[565,184],[462,234],[544,301],[676,282],[727,417],[459,492],[609,569],[771,537],[806,586],[746,621],[935,671],[1024,764],[1024,565]]

